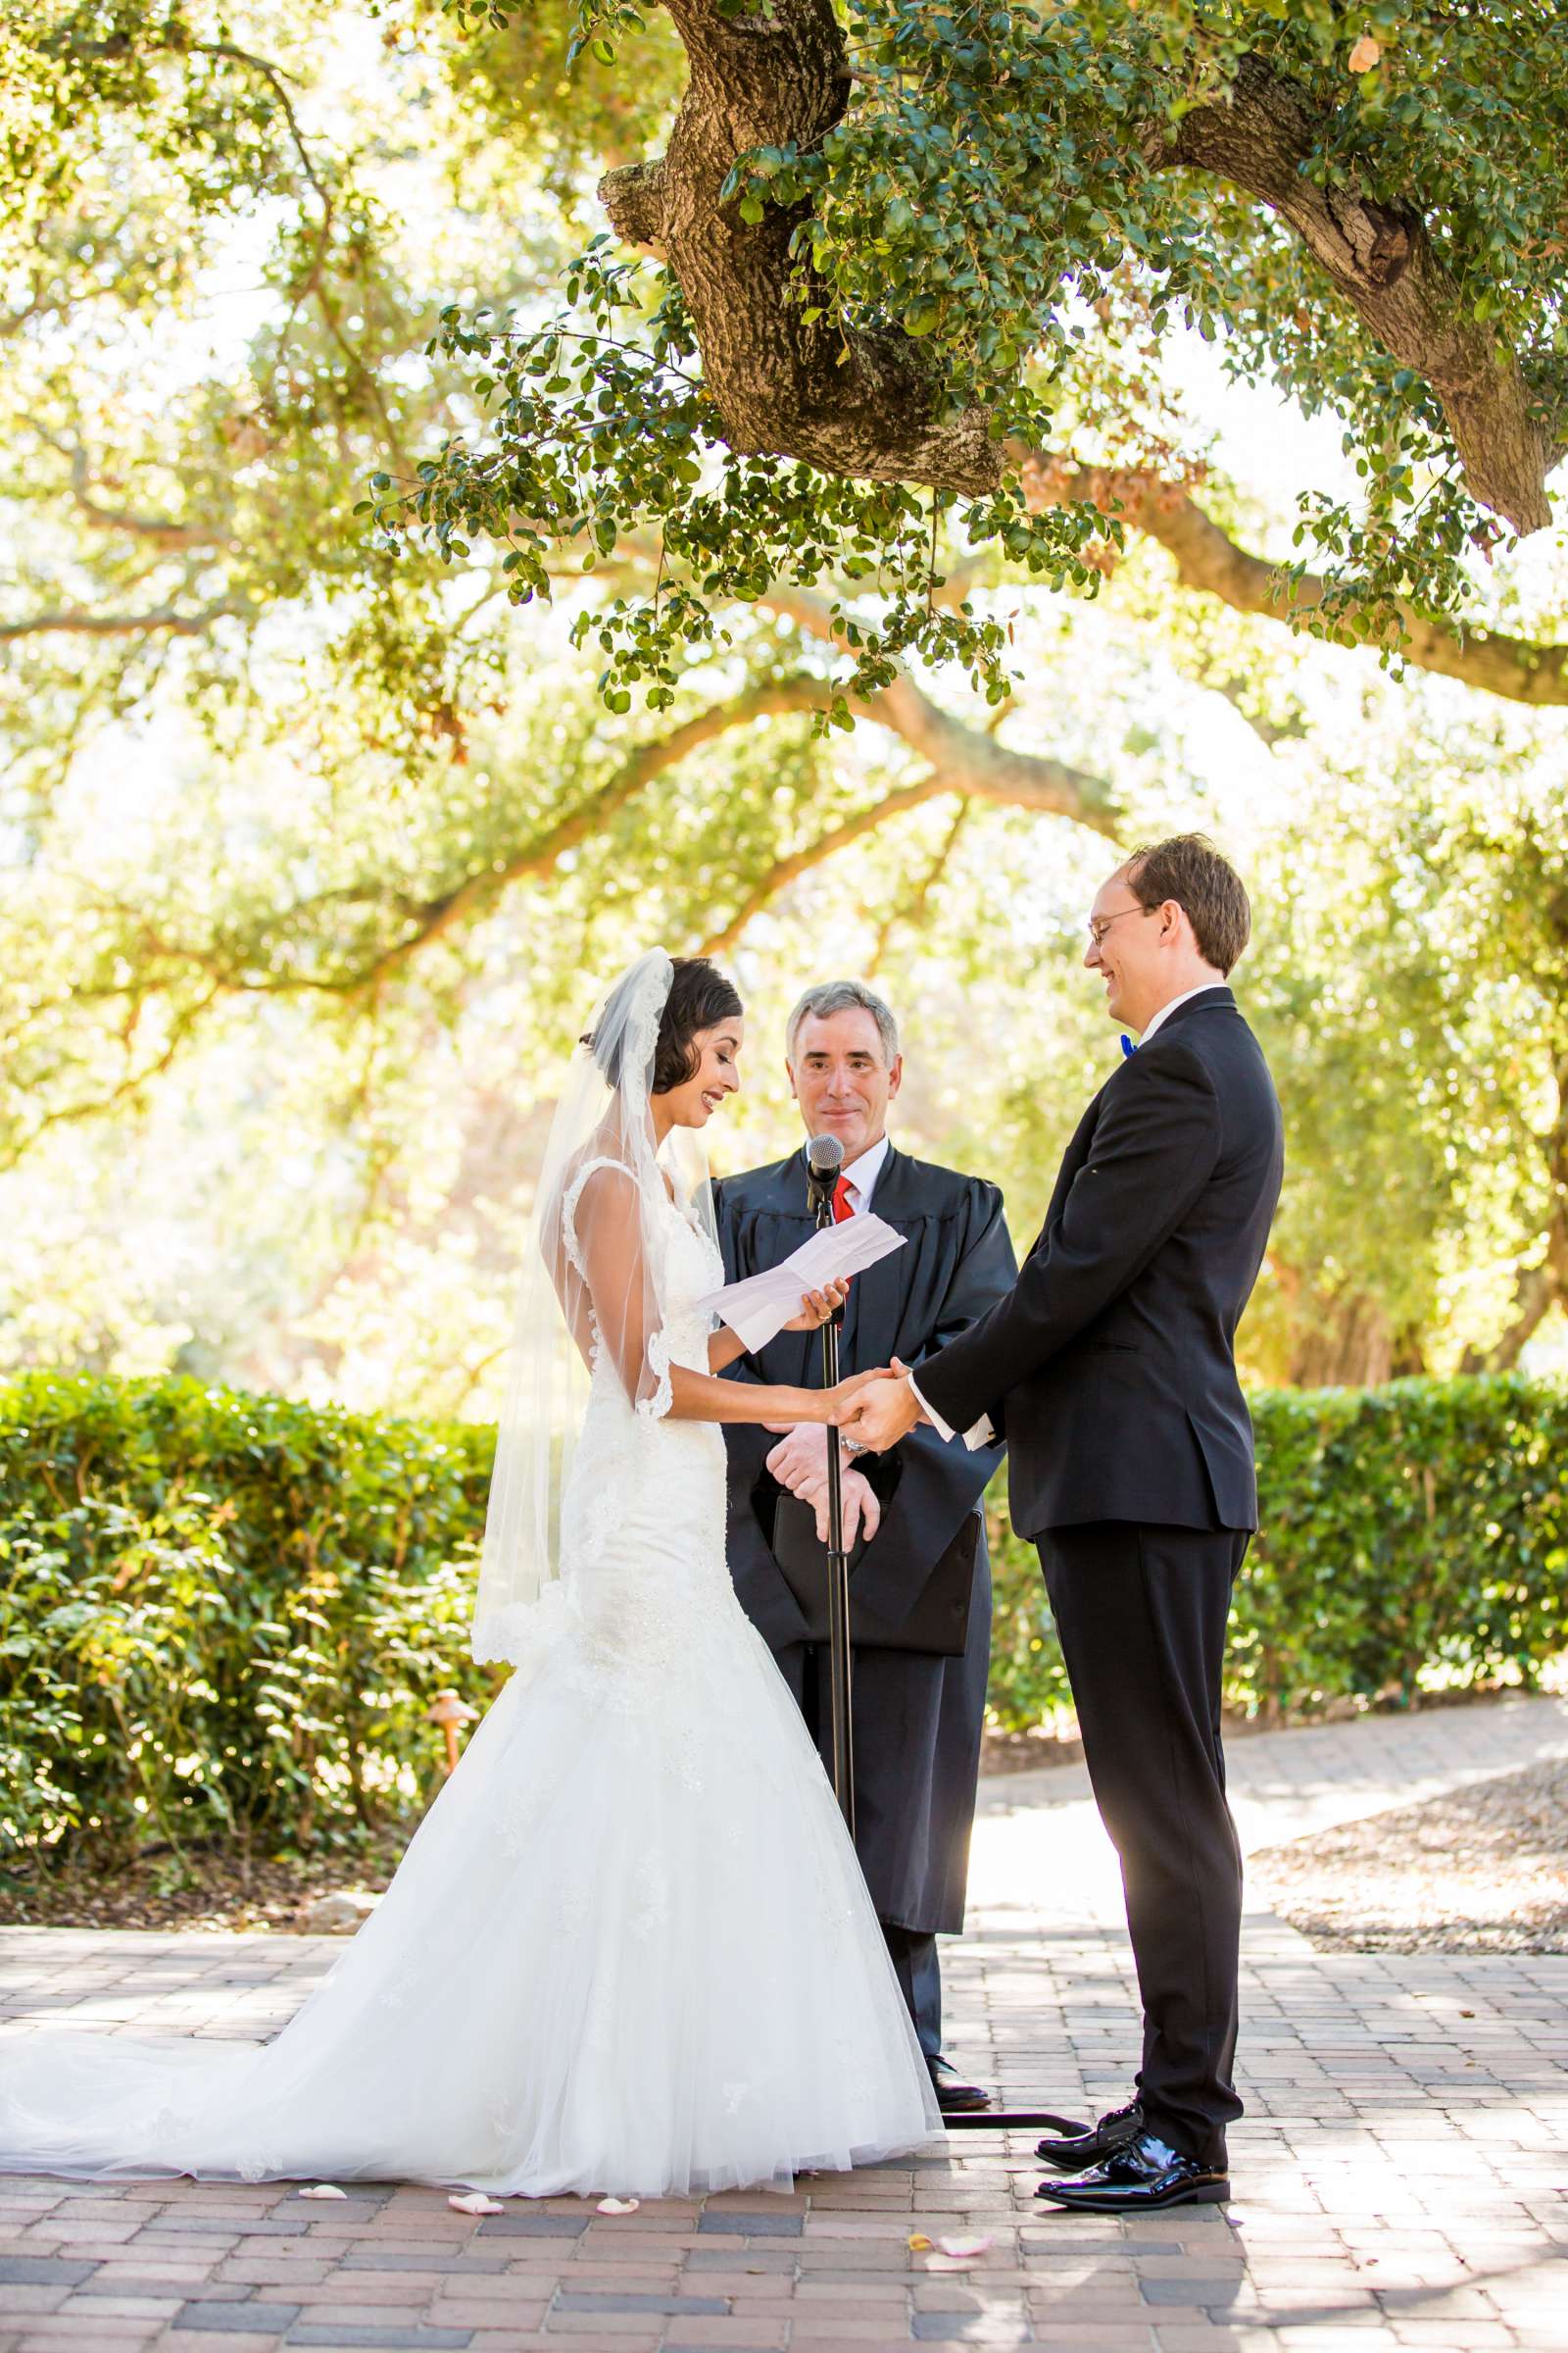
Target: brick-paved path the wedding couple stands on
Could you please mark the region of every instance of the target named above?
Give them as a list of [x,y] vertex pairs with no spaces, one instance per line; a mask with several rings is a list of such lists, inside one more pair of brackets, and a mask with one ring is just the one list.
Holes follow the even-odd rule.
[[[1251,1847],[1563,1753],[1568,1706],[1237,1741]],[[992,1784],[952,2049],[1093,2111],[1126,2094],[1133,2002],[1114,1887],[1072,1774]],[[336,1946],[294,1937],[0,1937],[0,2009],[270,2033]],[[1568,1958],[1319,1955],[1248,1915],[1229,2212],[1143,2224],[1034,2205],[1030,2139],[599,2217],[454,2214],[440,2191],[0,2179],[0,2353],[1065,2353],[1568,2348]],[[0,2038],[0,2064],[2,2064]],[[980,2233],[969,2268],[907,2238]]]

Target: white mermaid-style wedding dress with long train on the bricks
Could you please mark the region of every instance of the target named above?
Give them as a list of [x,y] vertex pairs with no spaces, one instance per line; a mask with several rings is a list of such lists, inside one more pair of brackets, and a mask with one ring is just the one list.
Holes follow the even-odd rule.
[[[658,1275],[668,1402],[722,1282],[675,1202]],[[724,1440],[637,1412],[604,1348],[559,1560],[536,1661],[292,2024],[7,2028],[0,2169],[682,2195],[933,2137],[853,1847],[731,1591]]]

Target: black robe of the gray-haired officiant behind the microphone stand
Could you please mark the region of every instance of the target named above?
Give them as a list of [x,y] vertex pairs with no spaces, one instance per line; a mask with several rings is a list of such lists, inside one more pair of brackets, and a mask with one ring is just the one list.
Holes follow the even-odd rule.
[[[724,1179],[717,1212],[726,1280],[788,1259],[811,1233],[804,1155]],[[905,1235],[905,1247],[851,1282],[839,1339],[844,1374],[886,1365],[893,1355],[917,1365],[969,1329],[1016,1275],[994,1184],[889,1148],[872,1212]],[[816,1332],[780,1332],[757,1355],[741,1358],[729,1379],[816,1388],[820,1339]],[[755,1506],[759,1487],[773,1489],[766,1457],[778,1438],[755,1424],[726,1424],[724,1442],[736,1593],[799,1697],[806,1624]],[[999,1461],[1001,1447],[971,1454],[959,1442],[943,1445],[924,1426],[886,1457],[863,1457],[860,1468],[882,1497],[882,1527],[853,1574],[851,1633],[856,1598],[891,1621],[914,1605],[964,1515],[980,1511]],[[853,1654],[856,1847],[877,1915],[917,1934],[957,1937],[964,1927],[990,1607],[983,1534],[961,1659],[865,1645],[856,1645]],[[830,1727],[820,1725],[825,1762],[827,1744]]]

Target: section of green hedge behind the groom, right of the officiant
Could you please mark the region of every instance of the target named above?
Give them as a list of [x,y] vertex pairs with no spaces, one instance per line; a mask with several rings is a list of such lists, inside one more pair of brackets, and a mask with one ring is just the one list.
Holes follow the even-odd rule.
[[[1253,1398],[1262,1529],[1232,1609],[1227,1701],[1514,1682],[1568,1649],[1568,1388],[1516,1377]],[[1034,1548],[992,1525],[992,1711],[1070,1706]]]

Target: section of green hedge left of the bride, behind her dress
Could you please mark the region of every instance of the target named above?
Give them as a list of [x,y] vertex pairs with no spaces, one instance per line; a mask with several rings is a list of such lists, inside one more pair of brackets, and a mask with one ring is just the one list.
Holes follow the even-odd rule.
[[195,1381],[0,1391],[0,1840],[263,1849],[416,1802],[494,1433]]

